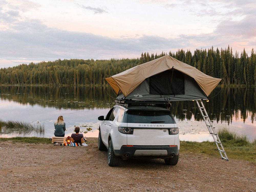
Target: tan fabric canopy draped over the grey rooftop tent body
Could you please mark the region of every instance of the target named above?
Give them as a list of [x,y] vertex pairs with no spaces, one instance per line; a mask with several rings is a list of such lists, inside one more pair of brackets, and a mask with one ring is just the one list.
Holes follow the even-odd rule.
[[193,78],[207,97],[221,81],[169,55],[137,65],[105,80],[117,94],[121,92],[126,97],[147,78],[172,69]]

